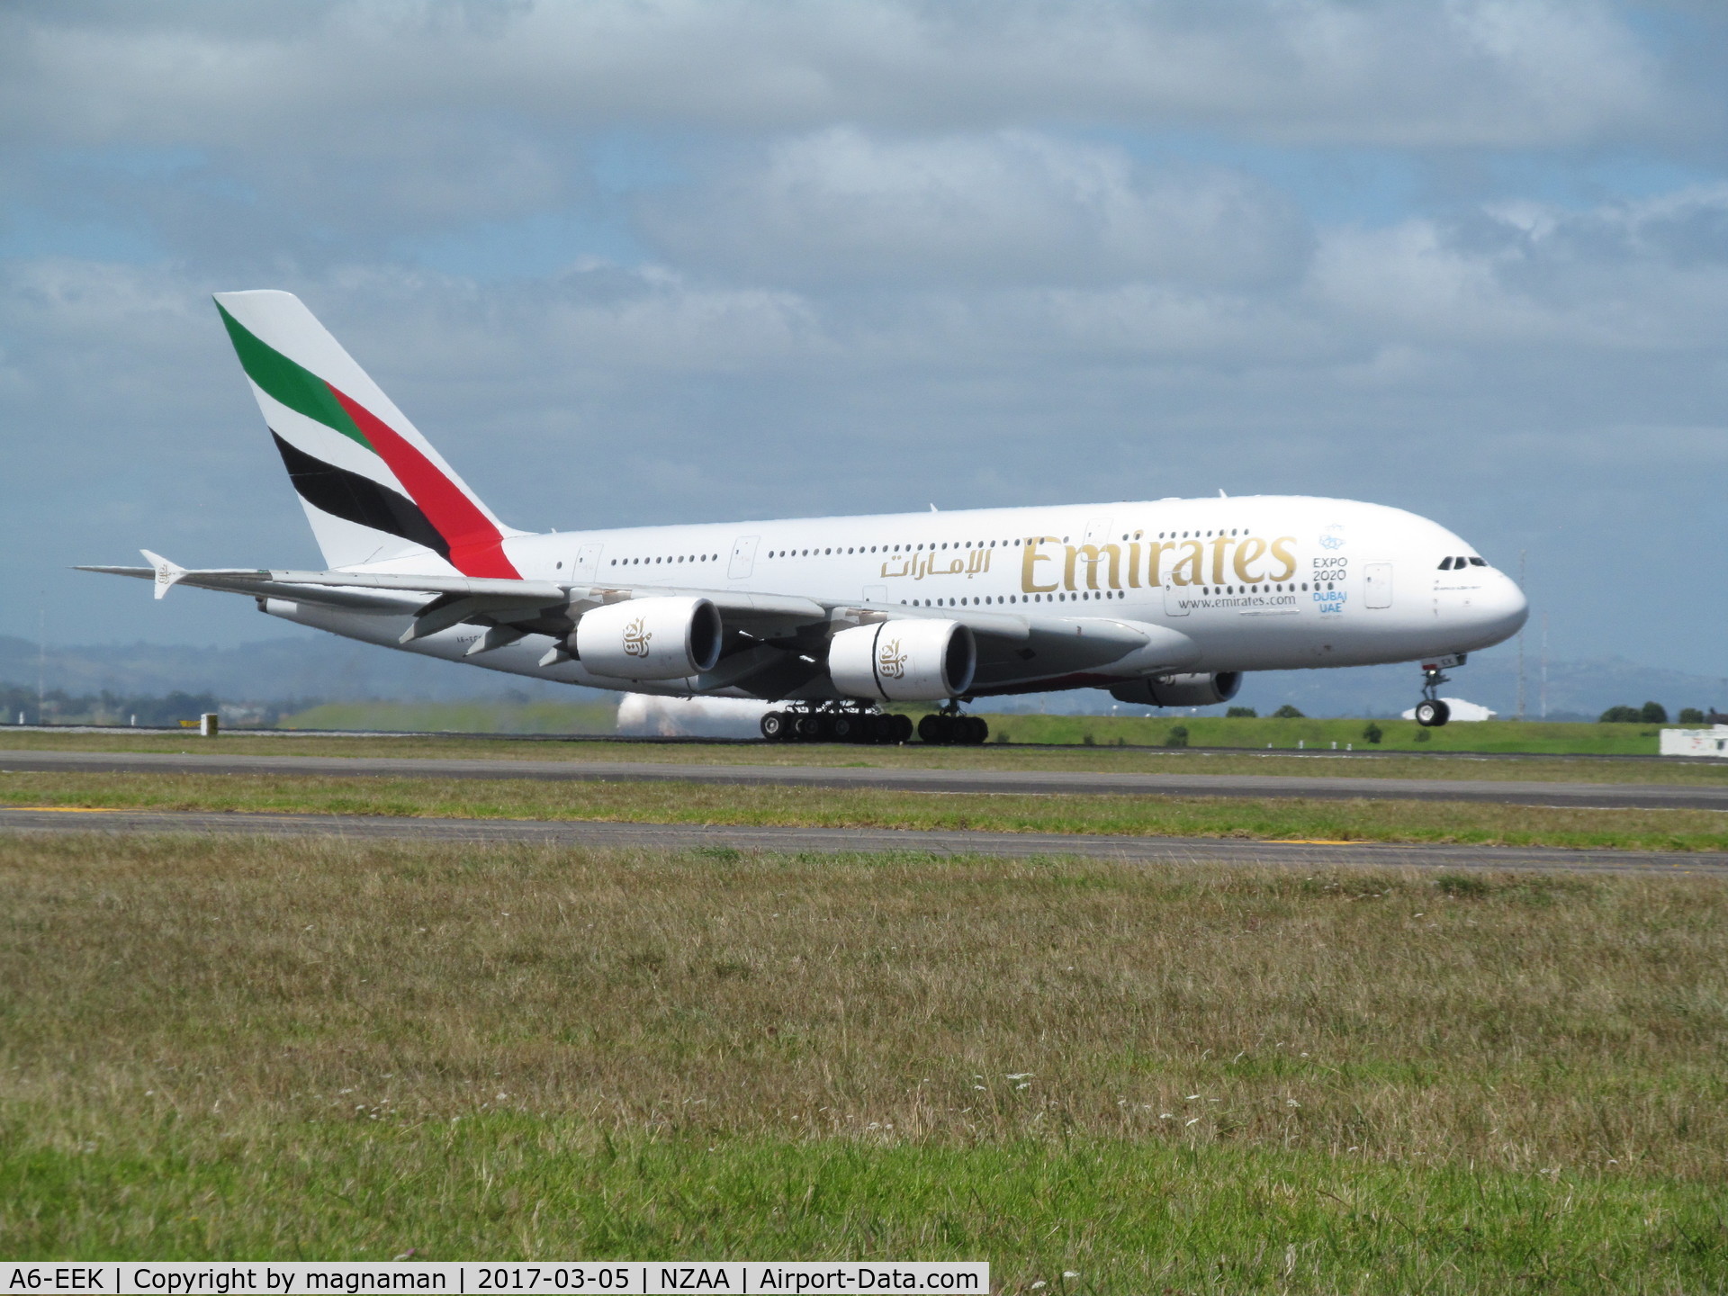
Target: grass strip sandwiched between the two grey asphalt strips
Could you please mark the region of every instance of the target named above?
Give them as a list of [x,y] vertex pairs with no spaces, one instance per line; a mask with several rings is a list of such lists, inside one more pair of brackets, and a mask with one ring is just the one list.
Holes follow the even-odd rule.
[[1728,812],[1493,802],[1007,797],[878,788],[0,772],[3,805],[1728,850]]

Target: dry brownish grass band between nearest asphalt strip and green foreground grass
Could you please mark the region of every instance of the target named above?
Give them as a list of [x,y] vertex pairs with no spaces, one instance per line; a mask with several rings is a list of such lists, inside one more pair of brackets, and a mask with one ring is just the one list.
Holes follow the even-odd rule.
[[1728,1170],[1711,881],[102,836],[0,866],[7,1089],[67,1137],[503,1108]]

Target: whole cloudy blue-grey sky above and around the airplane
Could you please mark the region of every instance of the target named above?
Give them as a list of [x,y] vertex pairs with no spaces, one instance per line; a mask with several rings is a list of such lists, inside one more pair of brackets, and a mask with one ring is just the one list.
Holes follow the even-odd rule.
[[1728,7],[12,0],[0,634],[318,565],[209,302],[529,530],[1325,494],[1728,676]]

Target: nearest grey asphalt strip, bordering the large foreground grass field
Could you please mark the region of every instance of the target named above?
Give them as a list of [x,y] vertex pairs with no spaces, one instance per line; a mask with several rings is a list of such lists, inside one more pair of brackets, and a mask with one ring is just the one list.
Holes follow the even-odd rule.
[[857,828],[724,828],[705,824],[569,823],[550,819],[389,819],[332,814],[206,814],[176,810],[0,809],[0,833],[195,833],[320,836],[347,842],[418,840],[589,848],[760,854],[997,855],[1111,859],[1130,864],[1260,864],[1284,867],[1534,869],[1543,873],[1668,873],[1728,876],[1728,854],[1553,850],[1540,847],[1356,845],[1232,838],[975,833]]

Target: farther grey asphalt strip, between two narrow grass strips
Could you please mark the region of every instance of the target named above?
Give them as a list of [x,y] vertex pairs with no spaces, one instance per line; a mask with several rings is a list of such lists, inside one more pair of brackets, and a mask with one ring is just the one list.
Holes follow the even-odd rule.
[[[859,748],[867,757],[869,748]],[[1498,802],[1595,809],[1728,810],[1728,785],[1541,783],[1500,779],[1301,778],[1289,774],[1092,774],[1078,771],[824,769],[622,760],[439,760],[166,752],[0,752],[0,771],[316,774],[323,778],[548,779],[881,788],[1020,797],[1301,797],[1315,800]]]

